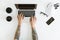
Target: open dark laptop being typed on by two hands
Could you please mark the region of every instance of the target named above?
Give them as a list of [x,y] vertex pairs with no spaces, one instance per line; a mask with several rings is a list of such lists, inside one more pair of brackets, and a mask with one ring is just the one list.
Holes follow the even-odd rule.
[[18,14],[23,13],[25,17],[31,17],[35,15],[36,4],[15,4],[18,11]]

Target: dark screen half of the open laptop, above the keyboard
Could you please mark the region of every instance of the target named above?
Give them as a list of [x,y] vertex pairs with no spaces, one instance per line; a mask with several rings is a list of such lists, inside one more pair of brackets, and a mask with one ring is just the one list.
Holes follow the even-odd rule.
[[36,9],[36,4],[15,4],[17,9]]

